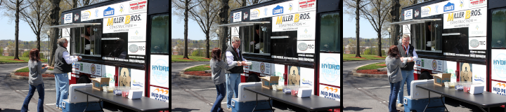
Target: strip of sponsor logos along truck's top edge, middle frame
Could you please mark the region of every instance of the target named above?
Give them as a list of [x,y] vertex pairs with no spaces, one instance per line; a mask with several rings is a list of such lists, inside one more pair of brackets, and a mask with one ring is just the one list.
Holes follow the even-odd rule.
[[[277,15],[289,15],[301,11],[316,10],[316,0],[299,0],[276,3],[269,6],[250,9],[249,20],[269,18]],[[234,21],[235,22],[235,21]]]

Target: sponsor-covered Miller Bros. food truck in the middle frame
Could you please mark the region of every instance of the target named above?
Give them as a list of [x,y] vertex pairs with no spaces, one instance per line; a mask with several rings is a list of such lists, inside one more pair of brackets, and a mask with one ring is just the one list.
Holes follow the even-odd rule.
[[241,82],[279,76],[279,85],[304,85],[340,101],[342,1],[266,1],[231,10],[231,36],[241,40]]

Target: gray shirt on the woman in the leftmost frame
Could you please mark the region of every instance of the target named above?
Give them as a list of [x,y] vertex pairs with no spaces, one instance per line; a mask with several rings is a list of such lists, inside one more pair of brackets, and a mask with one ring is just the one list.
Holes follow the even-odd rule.
[[37,86],[44,83],[42,80],[42,73],[46,72],[48,67],[42,69],[42,62],[40,61],[28,61],[28,69],[30,69],[30,76],[28,77],[28,84]]

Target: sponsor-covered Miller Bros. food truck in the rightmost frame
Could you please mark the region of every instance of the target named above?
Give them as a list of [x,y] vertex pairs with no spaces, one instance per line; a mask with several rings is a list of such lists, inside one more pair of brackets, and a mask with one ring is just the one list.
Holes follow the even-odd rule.
[[401,22],[391,25],[410,35],[419,56],[415,80],[451,73],[452,82],[478,82],[506,95],[505,8],[499,0],[425,1],[402,8]]

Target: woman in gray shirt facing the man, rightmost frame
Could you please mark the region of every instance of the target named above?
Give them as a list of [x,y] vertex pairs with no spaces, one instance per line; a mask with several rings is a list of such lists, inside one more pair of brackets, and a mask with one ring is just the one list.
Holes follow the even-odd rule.
[[[404,66],[406,59],[398,54],[398,48],[396,45],[391,45],[388,56],[385,58],[385,62],[387,64],[387,75],[390,83],[390,97],[389,97],[389,112],[397,112],[399,110],[396,109],[396,100],[399,87],[401,87],[402,73],[401,66]],[[399,58],[400,57],[400,58]]]

